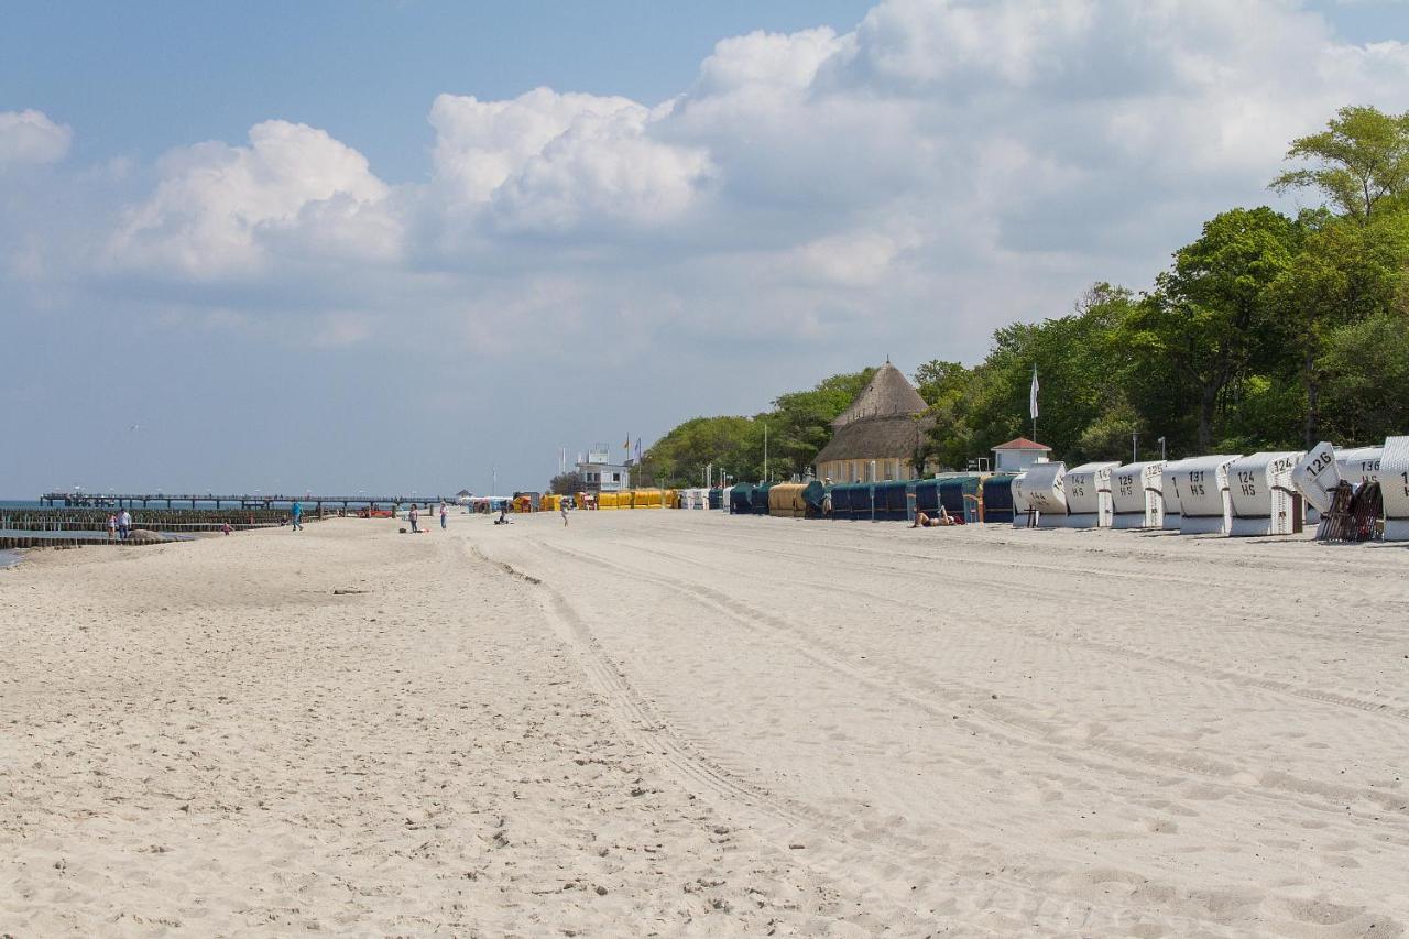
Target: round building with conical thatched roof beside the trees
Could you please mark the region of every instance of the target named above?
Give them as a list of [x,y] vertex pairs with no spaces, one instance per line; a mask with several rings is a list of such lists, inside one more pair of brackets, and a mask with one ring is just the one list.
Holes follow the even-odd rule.
[[913,479],[926,467],[914,453],[934,424],[920,392],[889,361],[851,406],[831,422],[831,440],[817,454],[817,477],[833,482]]

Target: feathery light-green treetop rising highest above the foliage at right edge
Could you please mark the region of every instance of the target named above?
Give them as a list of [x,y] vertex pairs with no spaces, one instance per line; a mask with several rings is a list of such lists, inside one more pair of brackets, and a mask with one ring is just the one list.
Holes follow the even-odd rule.
[[1381,203],[1409,193],[1409,113],[1343,107],[1324,131],[1292,141],[1286,158],[1312,165],[1284,172],[1272,189],[1319,189],[1341,213],[1368,223]]

